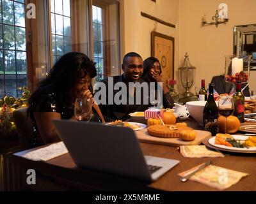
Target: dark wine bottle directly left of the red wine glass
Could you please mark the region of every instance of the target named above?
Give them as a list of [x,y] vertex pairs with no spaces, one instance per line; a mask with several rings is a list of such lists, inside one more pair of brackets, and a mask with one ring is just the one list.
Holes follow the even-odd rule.
[[204,106],[204,113],[203,113],[204,126],[208,122],[216,122],[219,117],[218,107],[213,97],[213,89],[214,89],[214,84],[213,83],[209,84],[209,96]]

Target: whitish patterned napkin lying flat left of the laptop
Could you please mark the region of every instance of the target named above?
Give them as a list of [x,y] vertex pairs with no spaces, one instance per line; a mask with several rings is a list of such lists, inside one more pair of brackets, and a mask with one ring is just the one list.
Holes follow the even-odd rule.
[[68,150],[64,143],[58,142],[23,154],[22,157],[33,161],[47,161],[66,153],[68,153]]

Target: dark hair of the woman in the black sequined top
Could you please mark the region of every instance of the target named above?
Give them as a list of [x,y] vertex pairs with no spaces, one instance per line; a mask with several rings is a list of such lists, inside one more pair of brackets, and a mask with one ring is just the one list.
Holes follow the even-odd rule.
[[91,61],[81,52],[68,52],[56,61],[49,76],[46,77],[29,98],[29,105],[38,101],[42,93],[56,92],[60,98],[65,98],[70,103],[70,89],[76,84],[77,79],[90,75],[97,75],[95,62]]

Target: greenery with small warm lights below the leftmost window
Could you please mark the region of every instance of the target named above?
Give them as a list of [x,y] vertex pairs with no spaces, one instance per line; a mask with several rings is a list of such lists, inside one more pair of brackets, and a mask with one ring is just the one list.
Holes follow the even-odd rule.
[[23,93],[20,98],[5,96],[0,99],[0,140],[8,140],[16,135],[16,126],[13,121],[12,113],[15,109],[28,106],[30,91],[23,87]]

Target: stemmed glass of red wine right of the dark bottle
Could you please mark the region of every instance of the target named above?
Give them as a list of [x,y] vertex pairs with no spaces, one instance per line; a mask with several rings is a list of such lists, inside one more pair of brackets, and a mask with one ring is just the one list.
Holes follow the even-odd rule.
[[227,126],[227,117],[234,112],[234,101],[233,97],[230,95],[220,96],[218,102],[218,110],[220,115],[225,117],[225,134]]

